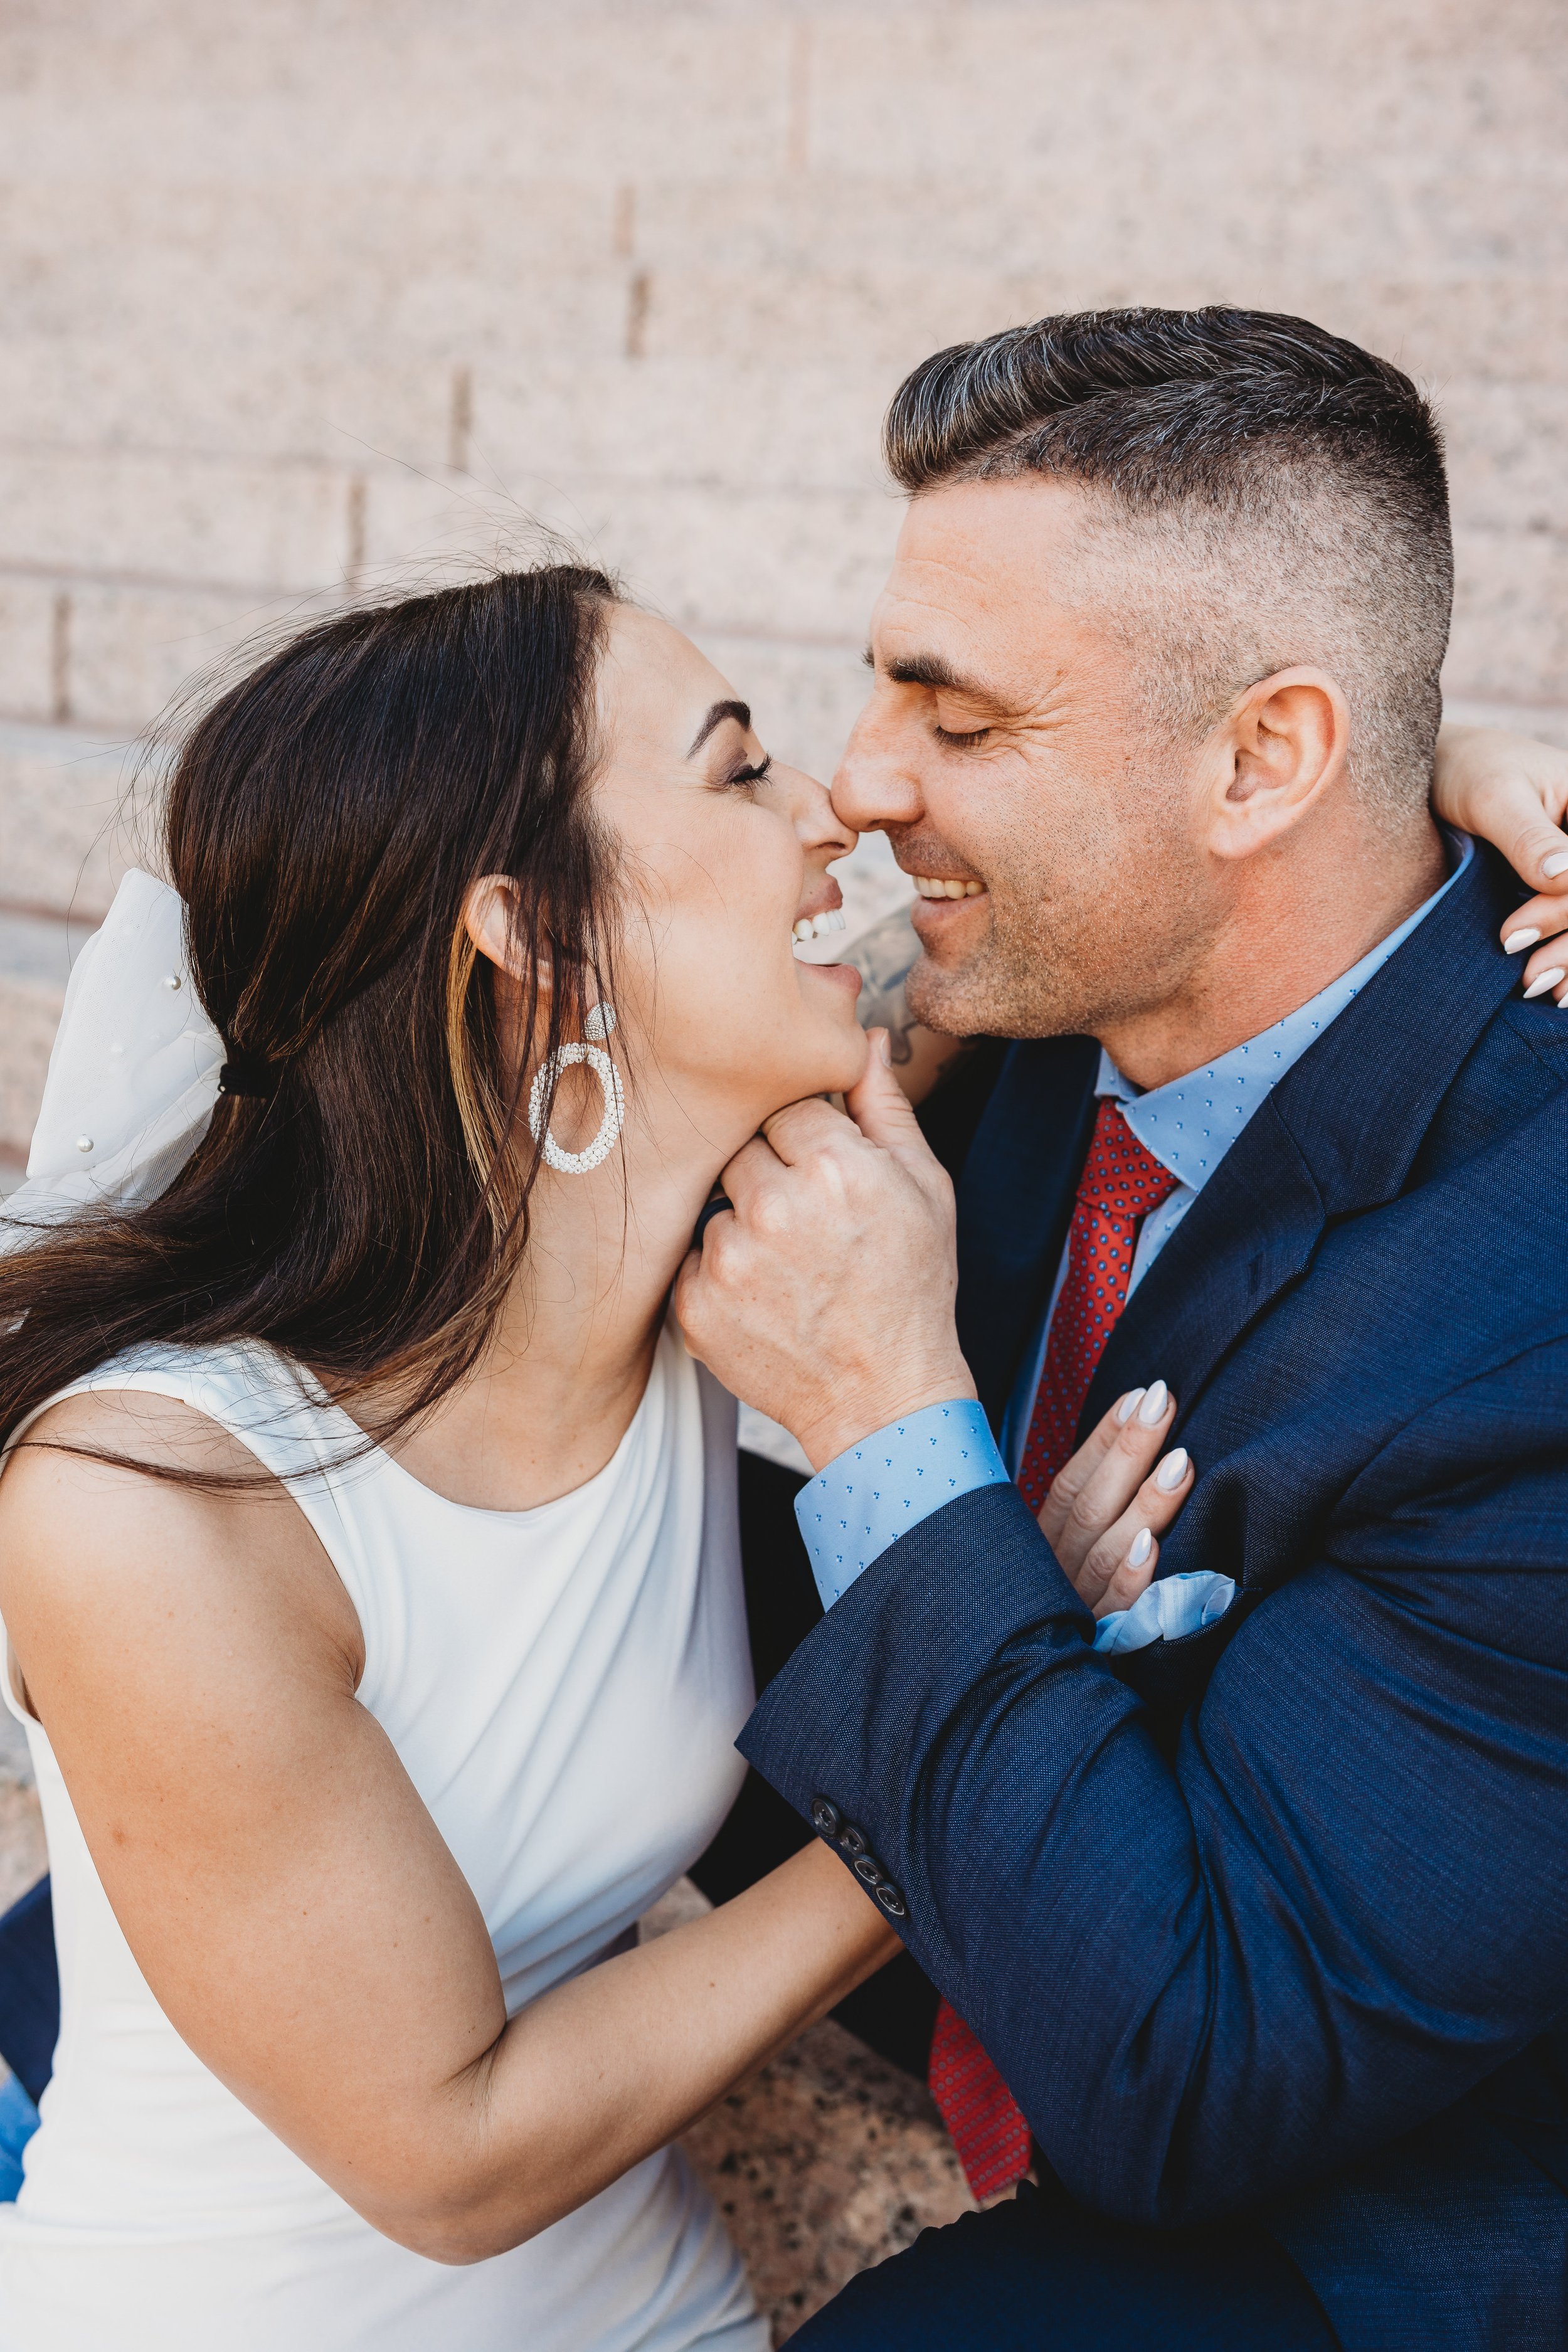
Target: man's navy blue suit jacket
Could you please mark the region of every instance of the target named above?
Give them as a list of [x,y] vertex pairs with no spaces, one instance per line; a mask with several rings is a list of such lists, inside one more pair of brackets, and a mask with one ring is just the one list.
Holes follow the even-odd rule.
[[[1568,2340],[1568,1016],[1481,851],[1274,1089],[1084,1409],[1164,1376],[1161,1573],[1227,1618],[1107,1663],[1011,1486],[839,1599],[741,1748],[900,1889],[1051,2166],[1255,2213],[1349,2347]],[[1093,1115],[1013,1047],[959,1183],[999,1418]]]

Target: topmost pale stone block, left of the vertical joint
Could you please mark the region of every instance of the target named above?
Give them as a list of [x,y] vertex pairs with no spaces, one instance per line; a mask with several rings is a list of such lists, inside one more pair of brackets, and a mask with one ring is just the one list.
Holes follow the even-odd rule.
[[771,9],[616,9],[588,31],[538,5],[273,5],[221,26],[68,5],[12,47],[0,153],[28,179],[484,183],[585,160],[607,181],[672,160],[726,179],[788,153],[792,42]]

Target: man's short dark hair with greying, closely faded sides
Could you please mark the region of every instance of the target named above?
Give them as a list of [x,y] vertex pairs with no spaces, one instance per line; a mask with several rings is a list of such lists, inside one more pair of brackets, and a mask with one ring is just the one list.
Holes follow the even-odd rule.
[[893,477],[1053,475],[1100,506],[1065,595],[1103,602],[1150,722],[1204,736],[1274,670],[1328,670],[1382,828],[1425,807],[1453,609],[1443,445],[1389,360],[1269,310],[1084,310],[954,343],[893,395]]

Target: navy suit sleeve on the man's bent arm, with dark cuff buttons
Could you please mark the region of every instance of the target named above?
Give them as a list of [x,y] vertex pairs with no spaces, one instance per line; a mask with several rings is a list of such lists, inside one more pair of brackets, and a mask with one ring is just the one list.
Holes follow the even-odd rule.
[[769,1686],[743,1752],[863,1832],[1086,2204],[1258,2204],[1561,2013],[1563,1395],[1554,1341],[1401,1430],[1175,1762],[1011,1486],[900,1538]]

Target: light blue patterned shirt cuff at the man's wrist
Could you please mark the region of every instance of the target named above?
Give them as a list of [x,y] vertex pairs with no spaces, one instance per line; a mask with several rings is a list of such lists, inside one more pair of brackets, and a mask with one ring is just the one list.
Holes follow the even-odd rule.
[[795,1496],[823,1609],[943,1503],[1006,1484],[997,1439],[973,1397],[924,1404],[846,1446]]

